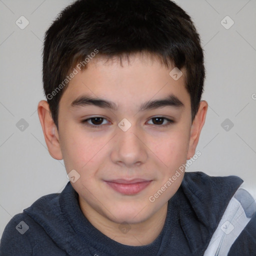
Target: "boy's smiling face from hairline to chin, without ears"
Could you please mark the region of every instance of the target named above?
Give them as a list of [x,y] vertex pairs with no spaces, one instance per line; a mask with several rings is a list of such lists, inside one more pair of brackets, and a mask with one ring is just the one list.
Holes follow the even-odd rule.
[[174,66],[138,54],[122,66],[104,58],[87,65],[59,102],[66,171],[75,170],[71,184],[84,207],[117,223],[144,221],[183,178],[176,170],[186,162],[191,135],[184,75],[174,80]]

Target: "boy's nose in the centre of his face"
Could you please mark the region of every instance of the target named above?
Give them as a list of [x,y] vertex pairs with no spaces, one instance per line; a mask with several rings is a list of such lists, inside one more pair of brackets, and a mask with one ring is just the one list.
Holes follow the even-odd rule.
[[117,127],[111,152],[112,161],[126,167],[144,163],[147,158],[147,147],[143,138],[142,132],[139,132],[135,125],[131,125],[126,131]]

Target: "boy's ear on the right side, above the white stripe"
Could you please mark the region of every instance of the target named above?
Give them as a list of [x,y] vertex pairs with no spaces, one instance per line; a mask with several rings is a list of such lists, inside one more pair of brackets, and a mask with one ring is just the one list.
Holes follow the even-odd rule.
[[189,146],[188,146],[186,159],[190,159],[195,153],[195,148],[199,140],[199,135],[205,121],[207,108],[208,108],[207,102],[205,100],[202,100],[200,102],[199,109],[191,125]]

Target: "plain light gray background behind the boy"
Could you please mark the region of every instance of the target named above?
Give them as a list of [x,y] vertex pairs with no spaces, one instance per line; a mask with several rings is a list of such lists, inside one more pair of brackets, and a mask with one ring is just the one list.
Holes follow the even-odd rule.
[[[13,215],[42,195],[60,192],[68,181],[63,161],[48,153],[36,110],[45,99],[43,35],[71,2],[0,0],[0,234]],[[202,99],[209,104],[197,146],[201,156],[187,171],[238,175],[256,198],[256,0],[176,2],[201,36],[206,67]],[[21,15],[29,21],[24,29],[15,24]],[[227,15],[234,21],[229,29],[221,24]],[[228,18],[222,22],[231,24]],[[23,131],[21,118],[28,124]]]

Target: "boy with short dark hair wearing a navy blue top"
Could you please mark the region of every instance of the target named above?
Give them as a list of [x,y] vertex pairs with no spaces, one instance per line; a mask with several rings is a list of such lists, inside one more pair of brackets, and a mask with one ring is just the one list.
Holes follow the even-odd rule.
[[38,115],[70,181],[5,227],[0,255],[256,255],[237,176],[185,172],[203,52],[170,0],[78,0],[46,31]]

